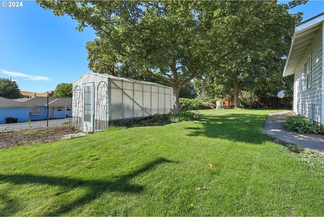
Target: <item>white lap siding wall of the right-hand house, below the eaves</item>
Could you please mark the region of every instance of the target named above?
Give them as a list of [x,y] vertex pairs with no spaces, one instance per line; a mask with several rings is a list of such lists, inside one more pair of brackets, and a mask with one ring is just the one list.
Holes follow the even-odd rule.
[[[311,54],[311,85],[303,90],[303,66]],[[316,33],[316,37],[305,57],[298,66],[294,75],[294,104],[293,110],[298,115],[312,118],[312,104],[314,104],[314,121],[321,123],[322,107],[322,29]]]

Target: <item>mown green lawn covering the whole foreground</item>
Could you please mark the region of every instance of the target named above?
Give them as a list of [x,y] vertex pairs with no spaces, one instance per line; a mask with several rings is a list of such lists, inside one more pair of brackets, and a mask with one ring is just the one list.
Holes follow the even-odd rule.
[[261,134],[272,112],[2,150],[0,215],[323,215],[322,158]]

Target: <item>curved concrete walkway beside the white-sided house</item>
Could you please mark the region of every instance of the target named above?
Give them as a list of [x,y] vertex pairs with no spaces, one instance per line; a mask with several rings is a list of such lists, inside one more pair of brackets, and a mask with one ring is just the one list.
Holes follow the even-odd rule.
[[305,149],[317,151],[324,155],[323,140],[316,139],[310,136],[301,135],[295,132],[289,132],[282,126],[282,124],[284,124],[285,122],[285,119],[284,117],[282,117],[282,115],[288,112],[291,111],[269,114],[267,120],[264,123],[262,133],[271,135],[284,142],[298,144],[299,146],[302,146]]

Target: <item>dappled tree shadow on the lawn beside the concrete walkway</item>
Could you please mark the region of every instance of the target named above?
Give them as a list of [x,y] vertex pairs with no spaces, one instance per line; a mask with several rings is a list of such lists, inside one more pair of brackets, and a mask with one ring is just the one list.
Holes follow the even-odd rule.
[[267,116],[257,114],[200,115],[200,122],[196,123],[199,126],[187,127],[186,129],[191,130],[187,135],[261,144],[271,140],[270,136],[261,133]]

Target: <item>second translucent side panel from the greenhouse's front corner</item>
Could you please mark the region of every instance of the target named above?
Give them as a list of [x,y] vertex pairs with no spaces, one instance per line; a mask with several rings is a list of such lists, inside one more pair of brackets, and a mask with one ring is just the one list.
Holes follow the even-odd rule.
[[124,118],[134,118],[133,83],[124,82],[123,87]]

